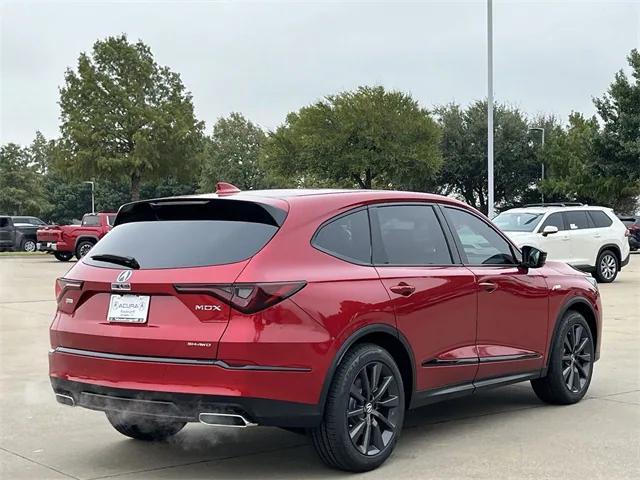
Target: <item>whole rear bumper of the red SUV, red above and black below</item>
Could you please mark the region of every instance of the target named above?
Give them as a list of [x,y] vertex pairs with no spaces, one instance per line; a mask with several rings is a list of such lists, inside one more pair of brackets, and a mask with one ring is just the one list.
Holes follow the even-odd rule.
[[320,422],[317,372],[278,367],[173,363],[49,353],[57,394],[93,410],[118,410],[198,421],[200,413],[241,413],[259,425],[311,427]]

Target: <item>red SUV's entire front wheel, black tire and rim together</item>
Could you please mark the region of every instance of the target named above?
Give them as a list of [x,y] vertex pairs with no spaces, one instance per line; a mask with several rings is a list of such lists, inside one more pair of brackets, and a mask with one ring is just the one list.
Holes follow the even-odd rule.
[[593,375],[593,334],[585,318],[569,310],[560,320],[551,347],[547,376],[531,380],[538,398],[553,405],[579,402]]

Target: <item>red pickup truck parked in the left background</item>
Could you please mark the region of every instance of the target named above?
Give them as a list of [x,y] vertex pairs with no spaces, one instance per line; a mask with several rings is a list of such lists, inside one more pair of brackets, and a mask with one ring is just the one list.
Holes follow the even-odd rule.
[[74,255],[80,259],[111,230],[115,217],[115,213],[87,213],[80,225],[41,228],[37,248],[53,253],[61,262],[68,262]]

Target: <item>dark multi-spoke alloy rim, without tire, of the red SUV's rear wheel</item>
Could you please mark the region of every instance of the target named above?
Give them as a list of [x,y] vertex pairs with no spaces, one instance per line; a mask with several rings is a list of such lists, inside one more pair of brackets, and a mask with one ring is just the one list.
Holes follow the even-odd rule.
[[349,391],[347,428],[353,445],[363,455],[377,455],[396,435],[400,425],[398,384],[389,367],[365,365]]

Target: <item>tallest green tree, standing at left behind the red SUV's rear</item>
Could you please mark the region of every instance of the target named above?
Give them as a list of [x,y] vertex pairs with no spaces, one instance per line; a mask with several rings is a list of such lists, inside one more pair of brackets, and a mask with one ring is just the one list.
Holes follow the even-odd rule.
[[125,35],[97,41],[68,69],[60,89],[60,166],[69,176],[126,178],[130,198],[143,180],[198,170],[203,123],[177,73]]

